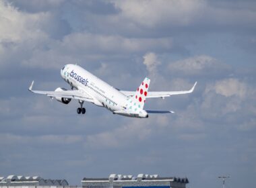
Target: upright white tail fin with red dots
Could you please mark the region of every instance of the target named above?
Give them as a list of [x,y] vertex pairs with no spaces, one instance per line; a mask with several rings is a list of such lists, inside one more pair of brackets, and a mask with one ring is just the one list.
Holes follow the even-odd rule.
[[141,85],[137,88],[135,95],[133,95],[133,102],[137,103],[140,109],[143,109],[146,102],[146,96],[148,95],[148,88],[150,87],[150,79],[145,78]]

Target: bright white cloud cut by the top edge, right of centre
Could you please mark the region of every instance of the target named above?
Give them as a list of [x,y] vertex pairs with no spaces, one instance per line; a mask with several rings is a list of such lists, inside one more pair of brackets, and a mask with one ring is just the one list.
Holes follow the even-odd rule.
[[199,11],[205,7],[204,1],[113,1],[121,15],[133,20],[135,23],[155,27],[170,23],[177,26],[187,26]]

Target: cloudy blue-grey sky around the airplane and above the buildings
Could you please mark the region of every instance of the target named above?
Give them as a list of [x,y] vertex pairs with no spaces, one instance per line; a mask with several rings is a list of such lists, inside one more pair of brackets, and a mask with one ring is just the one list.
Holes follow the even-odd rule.
[[[254,187],[256,1],[0,0],[0,176],[80,185],[111,173],[187,177],[187,187]],[[86,68],[113,87],[195,91],[148,99],[175,111],[133,119],[85,103],[86,115],[28,91],[70,89]]]

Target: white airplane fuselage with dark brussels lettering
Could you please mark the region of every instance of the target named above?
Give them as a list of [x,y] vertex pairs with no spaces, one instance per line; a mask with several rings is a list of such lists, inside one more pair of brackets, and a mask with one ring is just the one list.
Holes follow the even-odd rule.
[[[71,87],[84,91],[93,98],[92,103],[115,113],[115,111],[125,111],[129,98],[119,92],[114,87],[108,85],[98,77],[92,75],[81,66],[67,64],[61,69],[61,77],[71,85]],[[136,118],[148,118],[148,113],[141,109],[141,115]],[[120,114],[135,117],[129,113]],[[141,117],[140,117],[141,116]],[[145,117],[143,117],[145,116]]]

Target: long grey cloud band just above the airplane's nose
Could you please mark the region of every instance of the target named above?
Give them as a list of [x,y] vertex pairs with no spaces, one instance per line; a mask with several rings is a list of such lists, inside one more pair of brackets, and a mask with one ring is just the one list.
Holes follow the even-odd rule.
[[124,38],[90,33],[68,34],[61,42],[49,41],[46,49],[32,51],[22,65],[39,68],[60,68],[68,62],[98,62],[140,54],[150,50],[168,51],[173,48],[171,38]]

